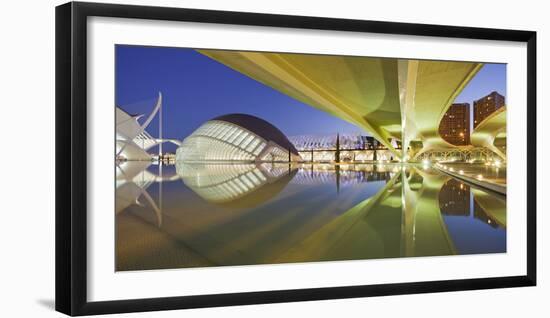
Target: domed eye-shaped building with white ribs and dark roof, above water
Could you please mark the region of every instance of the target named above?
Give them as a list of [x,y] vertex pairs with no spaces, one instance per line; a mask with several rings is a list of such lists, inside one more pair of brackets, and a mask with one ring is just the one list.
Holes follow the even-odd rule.
[[288,138],[267,121],[246,114],[211,119],[185,138],[176,159],[187,162],[301,160]]

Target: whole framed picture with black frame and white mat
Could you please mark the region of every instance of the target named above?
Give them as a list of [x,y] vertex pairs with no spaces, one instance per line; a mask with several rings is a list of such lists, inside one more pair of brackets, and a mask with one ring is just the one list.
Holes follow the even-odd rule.
[[56,8],[56,309],[536,284],[536,33]]

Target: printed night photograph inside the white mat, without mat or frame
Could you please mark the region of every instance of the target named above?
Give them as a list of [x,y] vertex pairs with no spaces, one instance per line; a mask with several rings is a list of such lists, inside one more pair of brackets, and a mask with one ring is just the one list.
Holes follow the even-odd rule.
[[117,44],[115,270],[507,252],[507,65]]

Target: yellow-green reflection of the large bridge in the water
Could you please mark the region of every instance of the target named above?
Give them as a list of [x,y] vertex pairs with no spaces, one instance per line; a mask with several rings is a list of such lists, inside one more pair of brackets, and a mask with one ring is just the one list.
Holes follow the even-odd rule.
[[[457,254],[454,242],[464,238],[449,233],[442,213],[458,197],[469,201],[470,190],[460,183],[462,188],[456,191],[447,184],[451,180],[432,170],[399,169],[375,196],[325,224],[274,261]],[[477,189],[471,193],[477,204],[474,217],[506,226],[505,201]],[[465,209],[464,216],[469,217],[473,212],[470,204]]]

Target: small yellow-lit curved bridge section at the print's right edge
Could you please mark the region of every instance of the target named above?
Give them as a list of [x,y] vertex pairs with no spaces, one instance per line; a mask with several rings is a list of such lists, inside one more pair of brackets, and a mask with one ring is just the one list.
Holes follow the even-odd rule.
[[473,146],[487,148],[506,160],[506,154],[495,146],[497,136],[506,136],[506,106],[497,109],[479,123],[470,138]]

